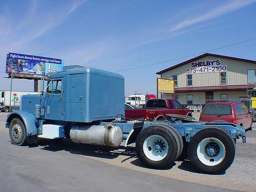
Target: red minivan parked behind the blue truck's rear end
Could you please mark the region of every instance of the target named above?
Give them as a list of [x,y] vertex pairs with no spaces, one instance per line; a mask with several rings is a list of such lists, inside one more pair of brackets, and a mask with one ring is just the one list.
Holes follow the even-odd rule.
[[253,116],[241,102],[212,102],[204,106],[199,121],[230,122],[252,130]]

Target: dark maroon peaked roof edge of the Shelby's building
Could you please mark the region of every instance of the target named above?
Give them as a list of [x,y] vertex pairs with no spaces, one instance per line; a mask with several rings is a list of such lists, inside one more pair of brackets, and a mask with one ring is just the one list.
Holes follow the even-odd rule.
[[254,61],[254,60],[248,60],[248,59],[242,59],[242,58],[230,57],[230,56],[224,56],[224,55],[217,55],[217,54],[212,54],[212,53],[204,53],[204,54],[196,56],[196,57],[194,57],[192,59],[186,60],[184,62],[181,62],[181,63],[176,64],[174,66],[171,66],[169,68],[166,68],[166,69],[164,69],[162,71],[156,72],[156,74],[158,74],[158,75],[163,74],[164,72],[170,71],[172,69],[175,69],[177,67],[180,67],[182,65],[188,64],[190,62],[193,62],[195,60],[198,60],[198,59],[206,57],[206,56],[214,56],[214,57],[220,57],[220,58],[226,58],[226,59],[233,59],[233,60],[244,61],[244,62],[249,62],[249,63],[255,63],[256,64],[256,61]]

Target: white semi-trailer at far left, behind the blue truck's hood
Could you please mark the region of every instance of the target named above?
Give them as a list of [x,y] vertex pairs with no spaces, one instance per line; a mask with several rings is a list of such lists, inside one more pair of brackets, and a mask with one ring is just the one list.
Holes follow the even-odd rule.
[[[0,112],[9,112],[9,110],[19,110],[20,109],[20,96],[27,94],[40,94],[40,92],[31,91],[12,91],[12,96],[10,97],[10,91],[0,90]],[[11,107],[10,107],[11,99]]]

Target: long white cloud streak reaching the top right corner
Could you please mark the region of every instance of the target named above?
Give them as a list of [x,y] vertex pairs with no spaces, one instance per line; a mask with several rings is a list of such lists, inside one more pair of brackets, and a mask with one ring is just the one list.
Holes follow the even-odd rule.
[[170,29],[170,32],[179,30],[181,28],[184,28],[205,20],[216,18],[218,16],[224,15],[229,12],[233,12],[235,10],[248,6],[254,2],[256,2],[256,0],[231,0],[231,1],[225,2],[224,4],[221,4],[220,6],[217,6],[216,8],[211,9],[210,12],[207,12],[205,14],[202,14],[194,18],[188,18],[186,20],[182,20],[176,26],[172,27]]

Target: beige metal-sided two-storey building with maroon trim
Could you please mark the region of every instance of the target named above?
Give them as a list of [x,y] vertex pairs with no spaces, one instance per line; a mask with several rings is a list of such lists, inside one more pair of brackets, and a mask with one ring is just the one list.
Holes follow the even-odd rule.
[[[216,63],[219,60],[218,66],[225,70],[205,73],[198,71],[207,67],[204,66],[206,61],[214,60]],[[197,71],[194,69],[195,73],[190,73],[192,63],[198,62],[202,65],[197,66]],[[205,53],[156,74],[161,75],[161,78],[176,79],[174,96],[182,104],[205,104],[207,100],[236,100],[246,96],[247,90],[255,86],[255,69],[256,61],[253,60]],[[172,94],[162,94],[162,98],[171,97]]]

